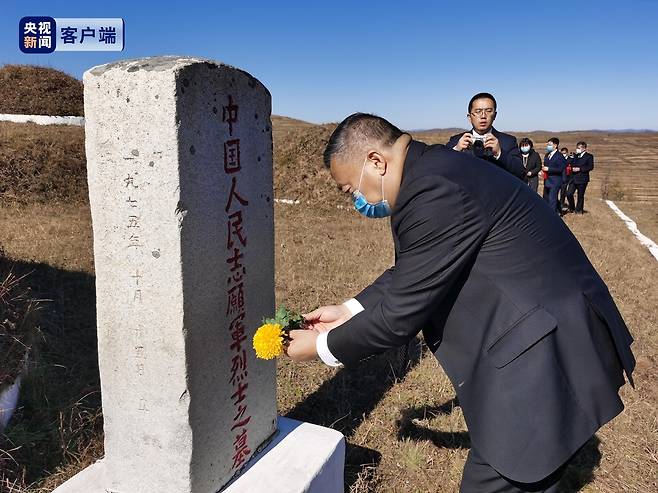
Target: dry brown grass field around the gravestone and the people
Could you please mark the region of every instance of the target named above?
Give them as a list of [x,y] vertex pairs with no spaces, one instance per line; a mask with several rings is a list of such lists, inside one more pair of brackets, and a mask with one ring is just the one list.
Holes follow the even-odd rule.
[[[314,205],[275,205],[277,303],[306,310],[343,301],[392,262],[388,222],[335,207],[347,202],[329,183],[320,154],[331,126],[283,118],[273,123],[275,195]],[[12,157],[3,149],[17,147],[16,135],[26,128],[0,123],[0,168]],[[45,132],[48,142],[57,134],[71,141],[82,129]],[[565,220],[617,300],[638,361],[636,389],[623,388],[625,412],[581,451],[564,490],[658,491],[658,262],[600,200],[607,194],[658,240],[658,160],[650,152],[658,148],[658,134],[558,135],[569,148],[586,140],[596,156],[589,214]],[[540,148],[548,134],[530,136]],[[415,137],[447,140],[440,132]],[[61,150],[45,148],[39,159],[64,158]],[[36,191],[0,186],[7,187],[0,201],[0,271],[11,264],[15,272],[30,272],[35,294],[50,300],[20,409],[0,435],[0,492],[45,493],[103,453],[91,218],[84,193],[42,200]],[[347,437],[346,491],[458,490],[469,448],[461,409],[433,356],[420,344],[410,352],[409,363],[392,351],[351,370],[280,361],[280,413]]]

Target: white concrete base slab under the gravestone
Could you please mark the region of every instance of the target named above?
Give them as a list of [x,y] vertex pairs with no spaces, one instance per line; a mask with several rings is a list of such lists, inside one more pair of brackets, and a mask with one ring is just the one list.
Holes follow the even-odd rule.
[[[344,470],[342,433],[279,417],[277,434],[272,441],[249,461],[240,476],[222,489],[222,493],[342,493]],[[112,489],[101,460],[53,493],[129,492]]]

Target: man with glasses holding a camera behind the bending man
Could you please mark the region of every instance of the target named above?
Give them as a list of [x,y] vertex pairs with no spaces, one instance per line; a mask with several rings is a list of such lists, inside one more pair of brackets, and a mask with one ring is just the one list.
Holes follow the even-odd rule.
[[488,92],[476,94],[468,102],[466,115],[473,128],[470,132],[450,137],[446,147],[486,159],[525,180],[526,171],[523,168],[516,137],[493,128],[496,115],[496,99]]

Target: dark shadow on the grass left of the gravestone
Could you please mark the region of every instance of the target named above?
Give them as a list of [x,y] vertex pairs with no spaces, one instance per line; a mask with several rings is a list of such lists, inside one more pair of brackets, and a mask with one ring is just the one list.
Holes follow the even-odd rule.
[[12,425],[0,434],[0,478],[29,485],[89,452],[102,434],[94,277],[0,256],[0,274],[27,274],[23,287],[42,299],[40,340]]

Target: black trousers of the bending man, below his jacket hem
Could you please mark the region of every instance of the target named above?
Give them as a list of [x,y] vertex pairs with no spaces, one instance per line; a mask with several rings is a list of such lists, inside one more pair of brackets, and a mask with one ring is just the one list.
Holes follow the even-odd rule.
[[473,448],[468,453],[464,474],[459,488],[460,493],[525,493],[545,492],[559,493],[560,479],[564,475],[569,461],[548,477],[536,483],[519,483],[501,476],[487,464]]

